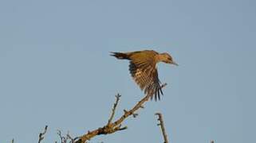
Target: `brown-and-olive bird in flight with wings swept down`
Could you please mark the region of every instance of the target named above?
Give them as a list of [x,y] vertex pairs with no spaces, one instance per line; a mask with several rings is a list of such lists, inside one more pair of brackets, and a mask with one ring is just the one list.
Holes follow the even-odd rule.
[[156,64],[163,62],[166,64],[174,64],[171,55],[167,52],[159,53],[154,50],[144,50],[136,52],[111,52],[111,56],[115,56],[119,60],[130,60],[129,71],[132,79],[138,84],[145,95],[155,95],[155,100],[160,100],[160,94],[163,95],[162,87]]

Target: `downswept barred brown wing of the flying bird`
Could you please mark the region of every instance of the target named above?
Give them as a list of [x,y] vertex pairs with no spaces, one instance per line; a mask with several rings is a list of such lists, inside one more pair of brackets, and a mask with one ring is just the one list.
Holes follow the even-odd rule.
[[155,64],[130,61],[129,70],[132,78],[140,86],[140,89],[144,90],[146,95],[152,97],[155,95],[156,100],[160,99],[160,94],[163,95],[163,91]]

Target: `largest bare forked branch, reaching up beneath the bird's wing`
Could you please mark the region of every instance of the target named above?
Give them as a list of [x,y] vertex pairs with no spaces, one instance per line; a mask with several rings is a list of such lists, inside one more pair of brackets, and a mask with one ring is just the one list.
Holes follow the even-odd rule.
[[[167,83],[164,83],[161,87],[165,87]],[[114,103],[114,106],[112,108],[112,114],[110,118],[108,119],[108,124],[106,126],[100,127],[98,129],[94,129],[93,131],[89,131],[88,133],[85,133],[82,135],[79,140],[75,141],[75,143],[85,143],[86,141],[89,141],[91,138],[101,135],[101,134],[110,134],[115,133],[120,130],[127,129],[127,126],[121,127],[121,123],[124,122],[126,118],[129,116],[133,116],[134,118],[138,115],[136,114],[136,110],[139,110],[140,108],[144,108],[144,102],[147,102],[148,99],[150,99],[151,96],[146,95],[143,99],[140,100],[140,102],[137,102],[135,106],[131,110],[124,110],[124,114],[118,118],[115,122],[112,122],[112,119],[114,117],[116,106],[120,100],[120,95],[116,95],[116,102]]]

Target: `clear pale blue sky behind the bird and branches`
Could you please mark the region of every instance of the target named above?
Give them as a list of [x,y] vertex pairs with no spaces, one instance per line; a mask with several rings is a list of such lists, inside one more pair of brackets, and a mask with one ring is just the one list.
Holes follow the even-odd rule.
[[0,142],[81,135],[143,97],[128,62],[110,51],[169,52],[168,83],[127,130],[92,142],[256,142],[256,2],[253,0],[0,1]]

